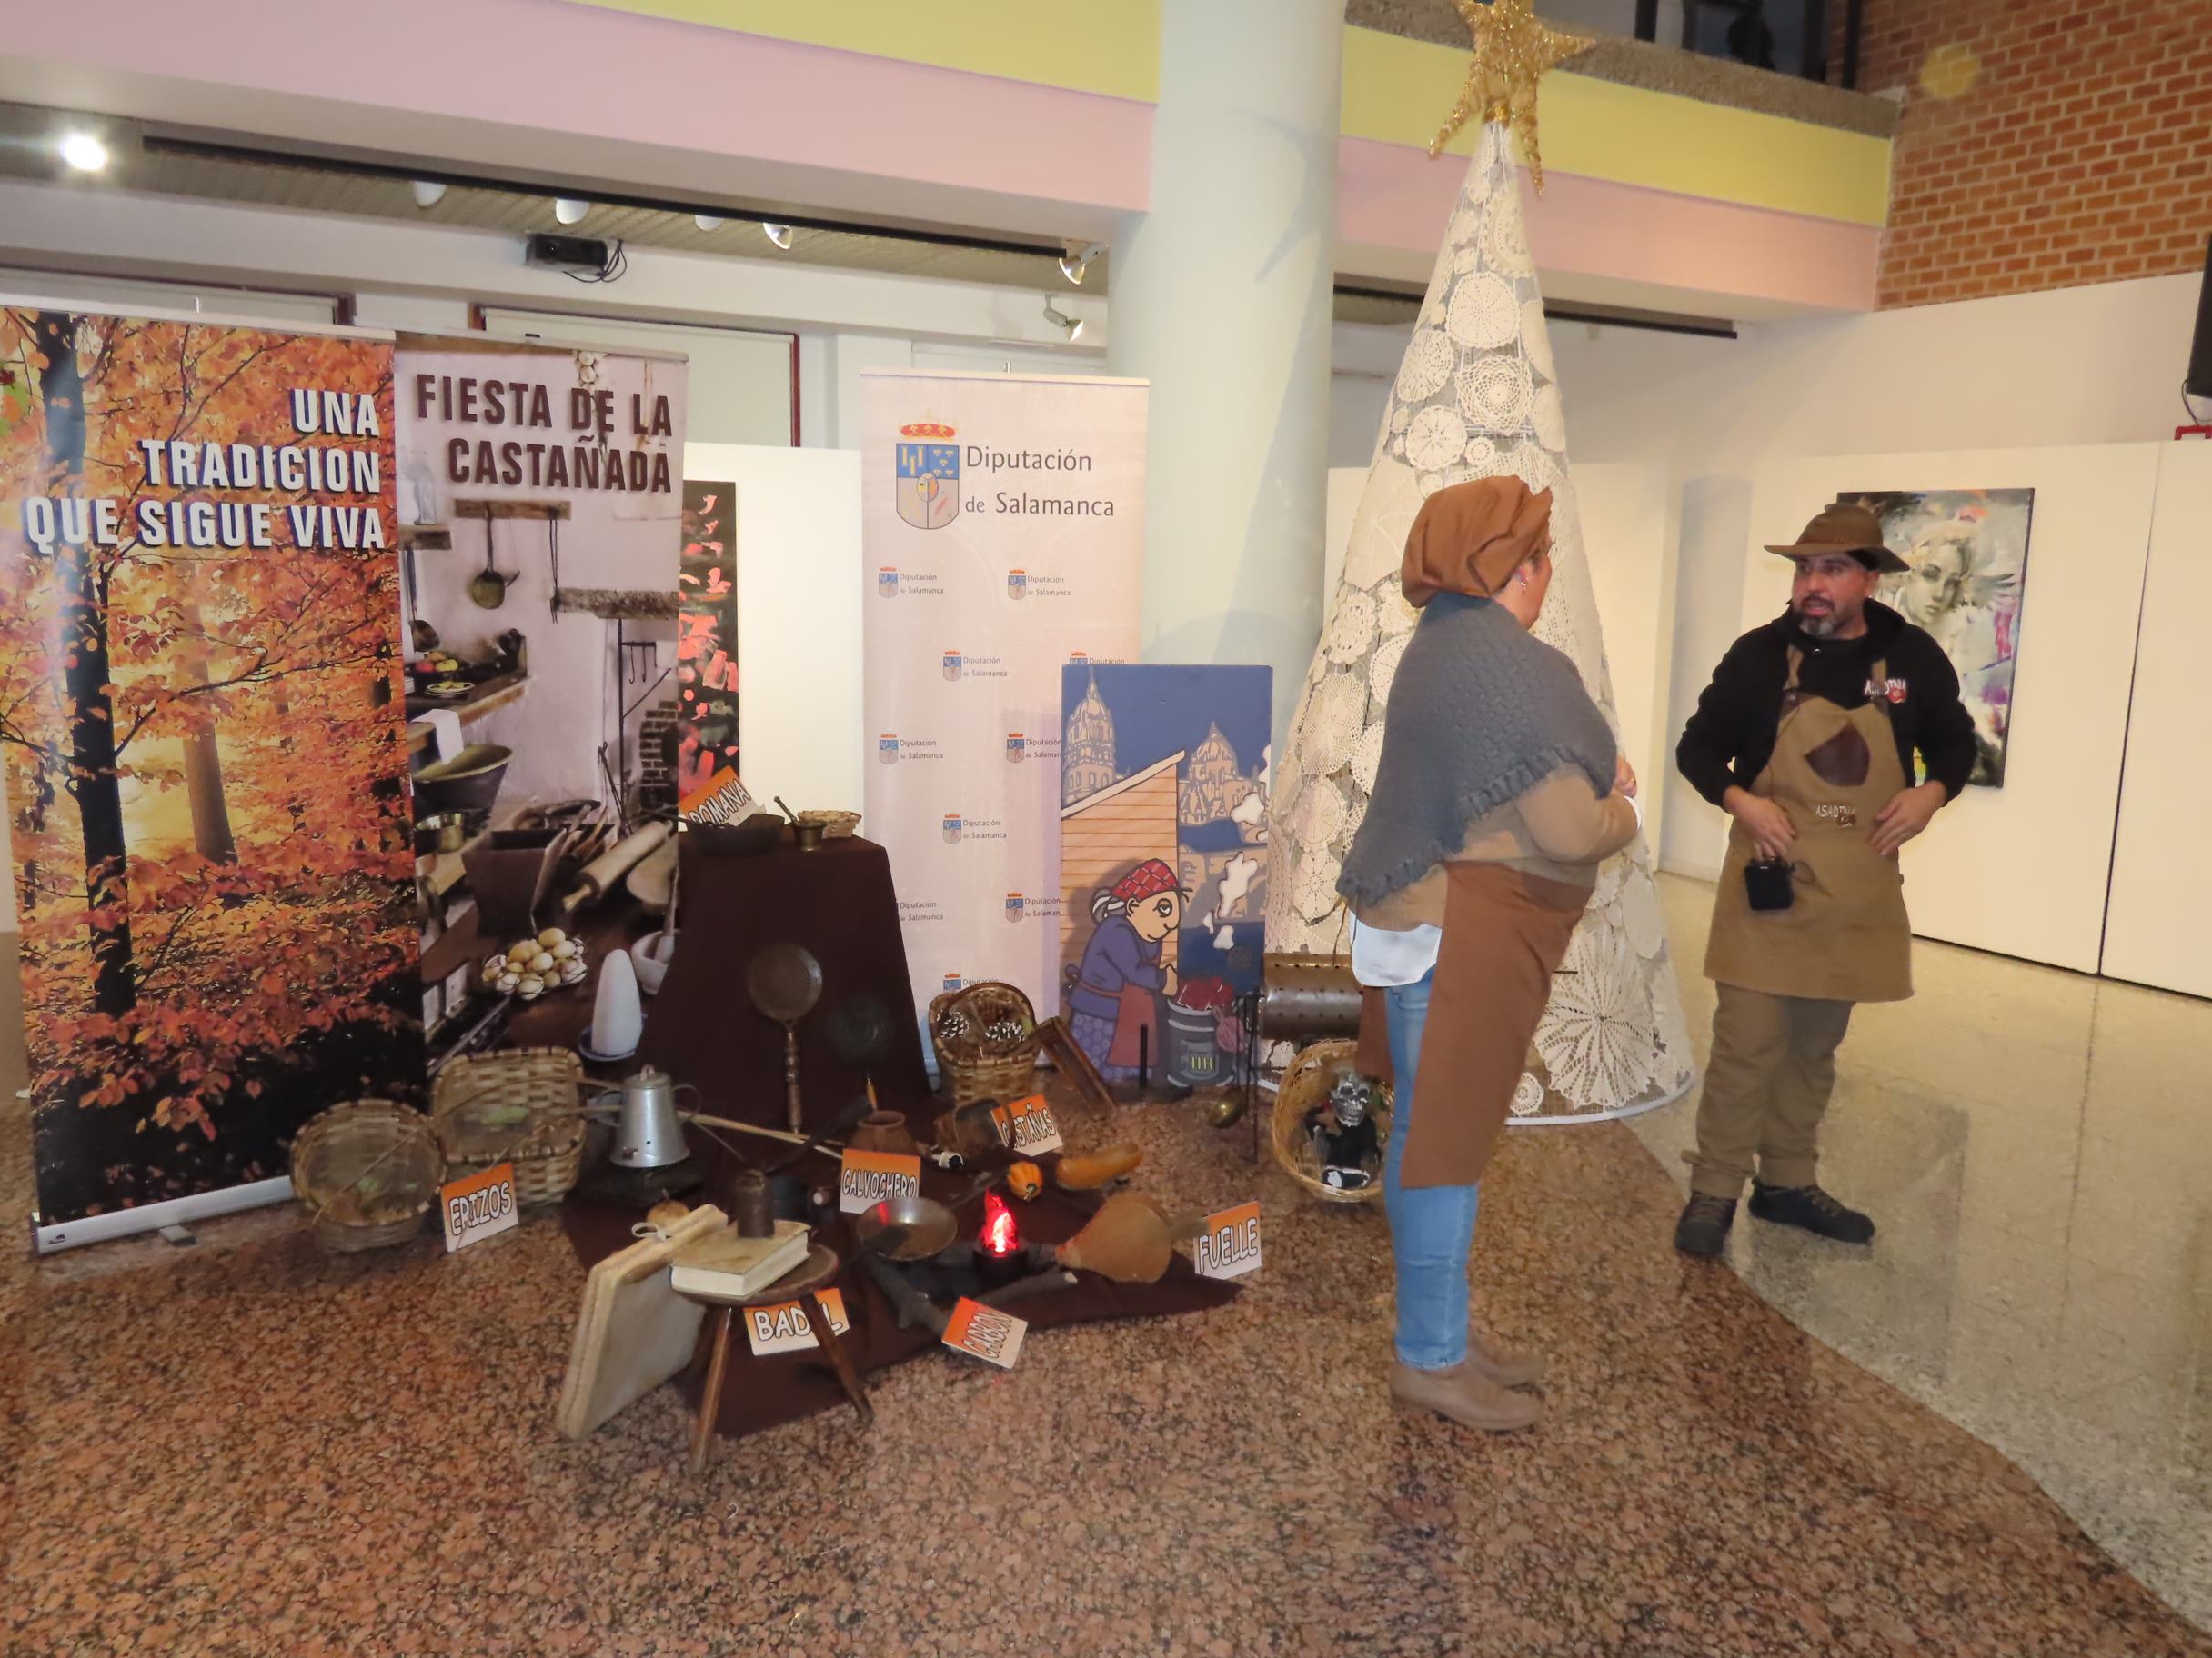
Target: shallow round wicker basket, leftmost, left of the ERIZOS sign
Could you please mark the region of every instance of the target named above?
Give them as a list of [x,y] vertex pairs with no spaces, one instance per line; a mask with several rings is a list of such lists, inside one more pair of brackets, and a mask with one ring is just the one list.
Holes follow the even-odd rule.
[[292,1141],[292,1192],[314,1240],[341,1256],[414,1238],[442,1183],[431,1121],[398,1101],[349,1099]]

